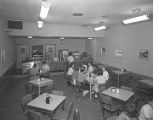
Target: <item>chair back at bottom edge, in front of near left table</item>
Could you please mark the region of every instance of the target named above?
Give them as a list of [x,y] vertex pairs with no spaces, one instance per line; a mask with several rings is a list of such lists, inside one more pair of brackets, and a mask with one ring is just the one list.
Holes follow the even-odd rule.
[[41,120],[41,113],[30,110],[27,113],[28,120]]

